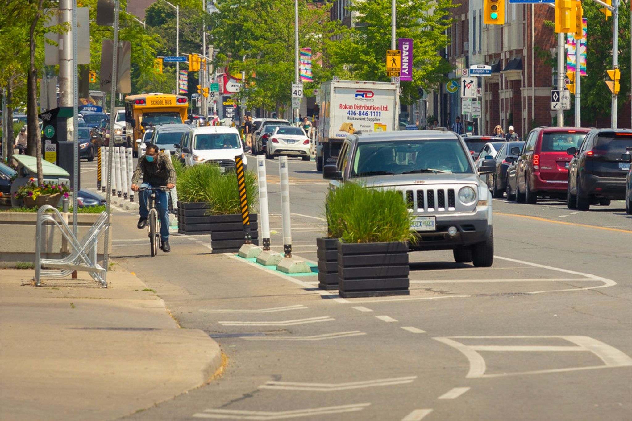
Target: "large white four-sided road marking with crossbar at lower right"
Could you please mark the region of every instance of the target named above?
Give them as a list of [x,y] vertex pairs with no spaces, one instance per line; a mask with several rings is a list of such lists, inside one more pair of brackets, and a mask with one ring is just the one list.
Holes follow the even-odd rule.
[[[465,345],[456,339],[562,339],[573,343],[576,346],[544,346],[544,345]],[[470,362],[470,371],[465,376],[468,379],[480,378],[480,377],[504,377],[504,376],[518,376],[521,374],[542,374],[552,372],[566,372],[566,371],[581,371],[602,369],[608,367],[632,367],[632,358],[625,353],[617,350],[617,348],[611,347],[602,341],[590,338],[590,336],[573,336],[573,335],[559,335],[559,336],[449,336],[449,337],[437,337],[433,338],[439,342],[445,343],[453,348],[459,350]],[[537,371],[521,371],[521,372],[504,372],[499,374],[485,374],[485,360],[482,355],[477,351],[487,352],[591,352],[604,362],[604,365],[590,365],[587,367],[566,367],[564,369],[547,369]]]

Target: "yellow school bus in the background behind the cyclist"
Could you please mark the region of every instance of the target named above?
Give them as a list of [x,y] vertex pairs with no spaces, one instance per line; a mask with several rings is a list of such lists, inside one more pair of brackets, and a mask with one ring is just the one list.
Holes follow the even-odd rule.
[[125,133],[127,144],[138,152],[136,139],[142,139],[145,127],[179,123],[187,119],[188,98],[169,93],[140,93],[125,97]]

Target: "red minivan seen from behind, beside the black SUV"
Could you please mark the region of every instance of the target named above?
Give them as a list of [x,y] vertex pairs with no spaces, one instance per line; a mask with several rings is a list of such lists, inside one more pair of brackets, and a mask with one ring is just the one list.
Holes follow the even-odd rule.
[[516,160],[516,201],[535,204],[538,196],[565,198],[568,187],[568,148],[580,148],[584,127],[537,127],[527,136]]

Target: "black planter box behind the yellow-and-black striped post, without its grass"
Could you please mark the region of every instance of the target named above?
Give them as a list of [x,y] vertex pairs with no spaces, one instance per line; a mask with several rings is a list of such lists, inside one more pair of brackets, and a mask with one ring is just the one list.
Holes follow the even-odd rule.
[[[210,247],[212,253],[238,252],[244,244],[241,215],[209,215]],[[250,237],[258,246],[257,214],[250,214]]]

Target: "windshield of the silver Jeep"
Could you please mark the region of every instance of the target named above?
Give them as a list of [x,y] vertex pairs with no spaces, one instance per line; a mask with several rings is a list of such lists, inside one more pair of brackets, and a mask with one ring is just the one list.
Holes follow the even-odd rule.
[[351,177],[425,172],[471,173],[458,139],[360,143]]

